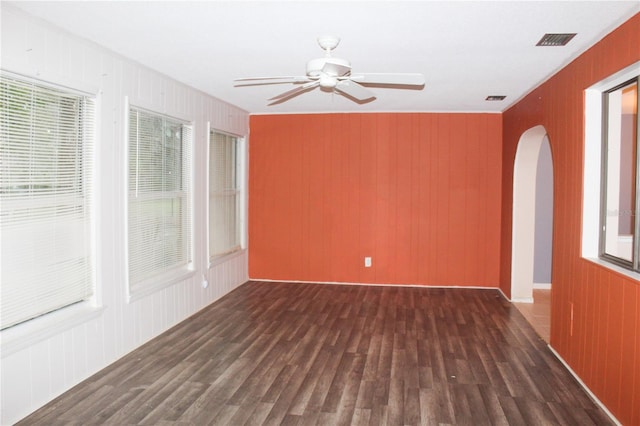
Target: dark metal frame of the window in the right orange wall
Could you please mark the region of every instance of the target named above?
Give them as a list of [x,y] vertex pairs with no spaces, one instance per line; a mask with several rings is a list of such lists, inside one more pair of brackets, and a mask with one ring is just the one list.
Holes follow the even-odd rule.
[[[633,68],[632,68],[633,69]],[[637,70],[640,71],[640,70]],[[606,229],[606,221],[607,215],[609,213],[609,209],[607,206],[607,185],[608,185],[608,152],[609,152],[609,98],[610,94],[620,90],[624,87],[636,84],[636,123],[635,123],[635,160],[634,160],[634,176],[633,185],[634,185],[634,201],[633,201],[633,209],[632,212],[633,226],[632,226],[632,238],[633,243],[631,247],[631,260],[624,259],[619,256],[615,256],[614,254],[607,252],[606,247],[606,237],[607,237],[607,229]],[[601,93],[601,153],[600,153],[600,186],[599,186],[599,232],[598,232],[598,258],[605,262],[617,267],[623,268],[625,270],[629,270],[632,273],[637,274],[640,272],[640,215],[637,213],[640,212],[640,150],[638,148],[638,138],[640,134],[640,120],[637,117],[637,105],[638,101],[640,101],[640,72],[637,72],[634,76],[629,78],[628,75],[625,75],[622,80],[620,78],[614,80],[613,82],[609,82],[607,84],[605,82],[599,85],[599,90]],[[586,118],[587,121],[589,117]],[[586,159],[585,159],[586,162]],[[587,173],[587,167],[585,166],[585,174]],[[586,188],[586,186],[585,186]],[[586,207],[586,206],[585,206]],[[620,214],[620,212],[618,212]],[[584,241],[583,241],[584,246]],[[635,277],[634,277],[635,278]],[[637,279],[637,278],[636,278]]]

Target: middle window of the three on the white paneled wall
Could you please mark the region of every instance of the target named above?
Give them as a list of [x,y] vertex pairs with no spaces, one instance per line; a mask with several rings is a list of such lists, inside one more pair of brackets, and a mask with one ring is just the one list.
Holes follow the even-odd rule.
[[129,295],[192,270],[191,145],[187,123],[129,109]]

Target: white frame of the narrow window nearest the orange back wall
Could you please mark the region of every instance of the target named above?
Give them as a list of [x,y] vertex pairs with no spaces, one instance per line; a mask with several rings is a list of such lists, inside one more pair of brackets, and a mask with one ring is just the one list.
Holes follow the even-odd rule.
[[[236,157],[235,157],[235,181],[236,188],[234,195],[236,196],[236,232],[238,233],[238,245],[233,250],[221,253],[212,253],[211,250],[211,145],[213,143],[213,135],[220,134],[235,139]],[[215,129],[211,123],[207,125],[207,259],[209,268],[223,263],[232,257],[235,257],[246,250],[246,137],[231,132]],[[224,192],[224,191],[223,191]]]

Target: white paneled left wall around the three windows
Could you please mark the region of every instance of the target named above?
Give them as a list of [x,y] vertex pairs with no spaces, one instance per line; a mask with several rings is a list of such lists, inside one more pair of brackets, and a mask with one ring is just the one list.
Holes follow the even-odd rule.
[[[86,319],[76,318],[48,334],[38,337],[37,330],[32,331],[35,338],[12,349],[8,349],[6,333],[0,334],[0,423],[4,425],[21,419],[247,280],[246,253],[209,269],[205,208],[207,122],[215,129],[247,135],[248,114],[11,6],[1,7],[3,70],[98,97],[96,266],[97,305],[101,307]],[[125,288],[126,98],[133,105],[193,121],[196,162],[196,272],[187,281],[131,303],[126,301]],[[203,276],[209,281],[206,289],[201,285]],[[47,318],[40,320],[46,326]],[[14,337],[23,332],[19,327],[12,330]]]

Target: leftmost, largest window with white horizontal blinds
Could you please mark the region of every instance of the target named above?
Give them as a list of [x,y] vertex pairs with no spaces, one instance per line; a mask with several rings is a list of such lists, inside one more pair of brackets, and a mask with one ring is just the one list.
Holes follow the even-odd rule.
[[0,76],[1,328],[94,289],[94,100]]

